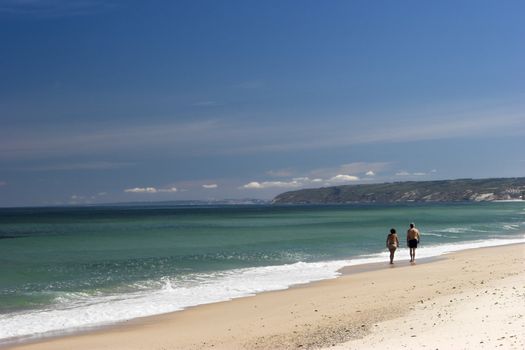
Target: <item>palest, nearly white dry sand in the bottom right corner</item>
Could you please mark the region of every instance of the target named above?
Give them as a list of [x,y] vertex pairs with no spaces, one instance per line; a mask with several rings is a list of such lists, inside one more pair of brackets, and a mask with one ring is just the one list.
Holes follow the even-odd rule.
[[518,275],[417,301],[364,338],[327,349],[525,349],[525,280]]

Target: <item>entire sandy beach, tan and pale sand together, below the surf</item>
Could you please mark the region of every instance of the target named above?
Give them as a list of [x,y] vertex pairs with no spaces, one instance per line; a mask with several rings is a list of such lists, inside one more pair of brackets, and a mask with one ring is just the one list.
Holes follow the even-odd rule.
[[288,290],[10,349],[522,349],[525,245],[397,256]]

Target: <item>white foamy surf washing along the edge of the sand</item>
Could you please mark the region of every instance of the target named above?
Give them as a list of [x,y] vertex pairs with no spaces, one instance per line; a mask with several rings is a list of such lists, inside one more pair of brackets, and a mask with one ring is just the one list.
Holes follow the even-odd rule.
[[[492,239],[422,245],[418,259],[435,257],[471,248],[524,243],[525,235],[513,239]],[[400,248],[397,260],[408,260],[408,250]],[[113,295],[68,294],[58,297],[52,308],[0,315],[0,344],[67,333],[70,331],[122,322],[133,318],[158,315],[185,308],[227,301],[256,293],[282,290],[292,285],[336,278],[344,266],[385,262],[388,252],[359,256],[349,260],[297,262],[294,264],[235,269],[195,275],[194,283],[163,277],[155,290]],[[198,280],[198,283],[195,281]]]

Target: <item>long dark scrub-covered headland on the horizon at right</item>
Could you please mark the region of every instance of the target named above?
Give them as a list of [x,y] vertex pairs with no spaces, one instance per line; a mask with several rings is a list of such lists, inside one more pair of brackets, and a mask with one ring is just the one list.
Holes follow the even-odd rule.
[[480,202],[525,199],[525,177],[406,181],[285,192],[275,204]]

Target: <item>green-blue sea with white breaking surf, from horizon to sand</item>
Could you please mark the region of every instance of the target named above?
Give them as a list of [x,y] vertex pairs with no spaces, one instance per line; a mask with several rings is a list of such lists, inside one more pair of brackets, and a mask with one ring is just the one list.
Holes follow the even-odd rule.
[[0,209],[0,344],[335,278],[388,263],[410,222],[418,259],[525,242],[525,202]]

